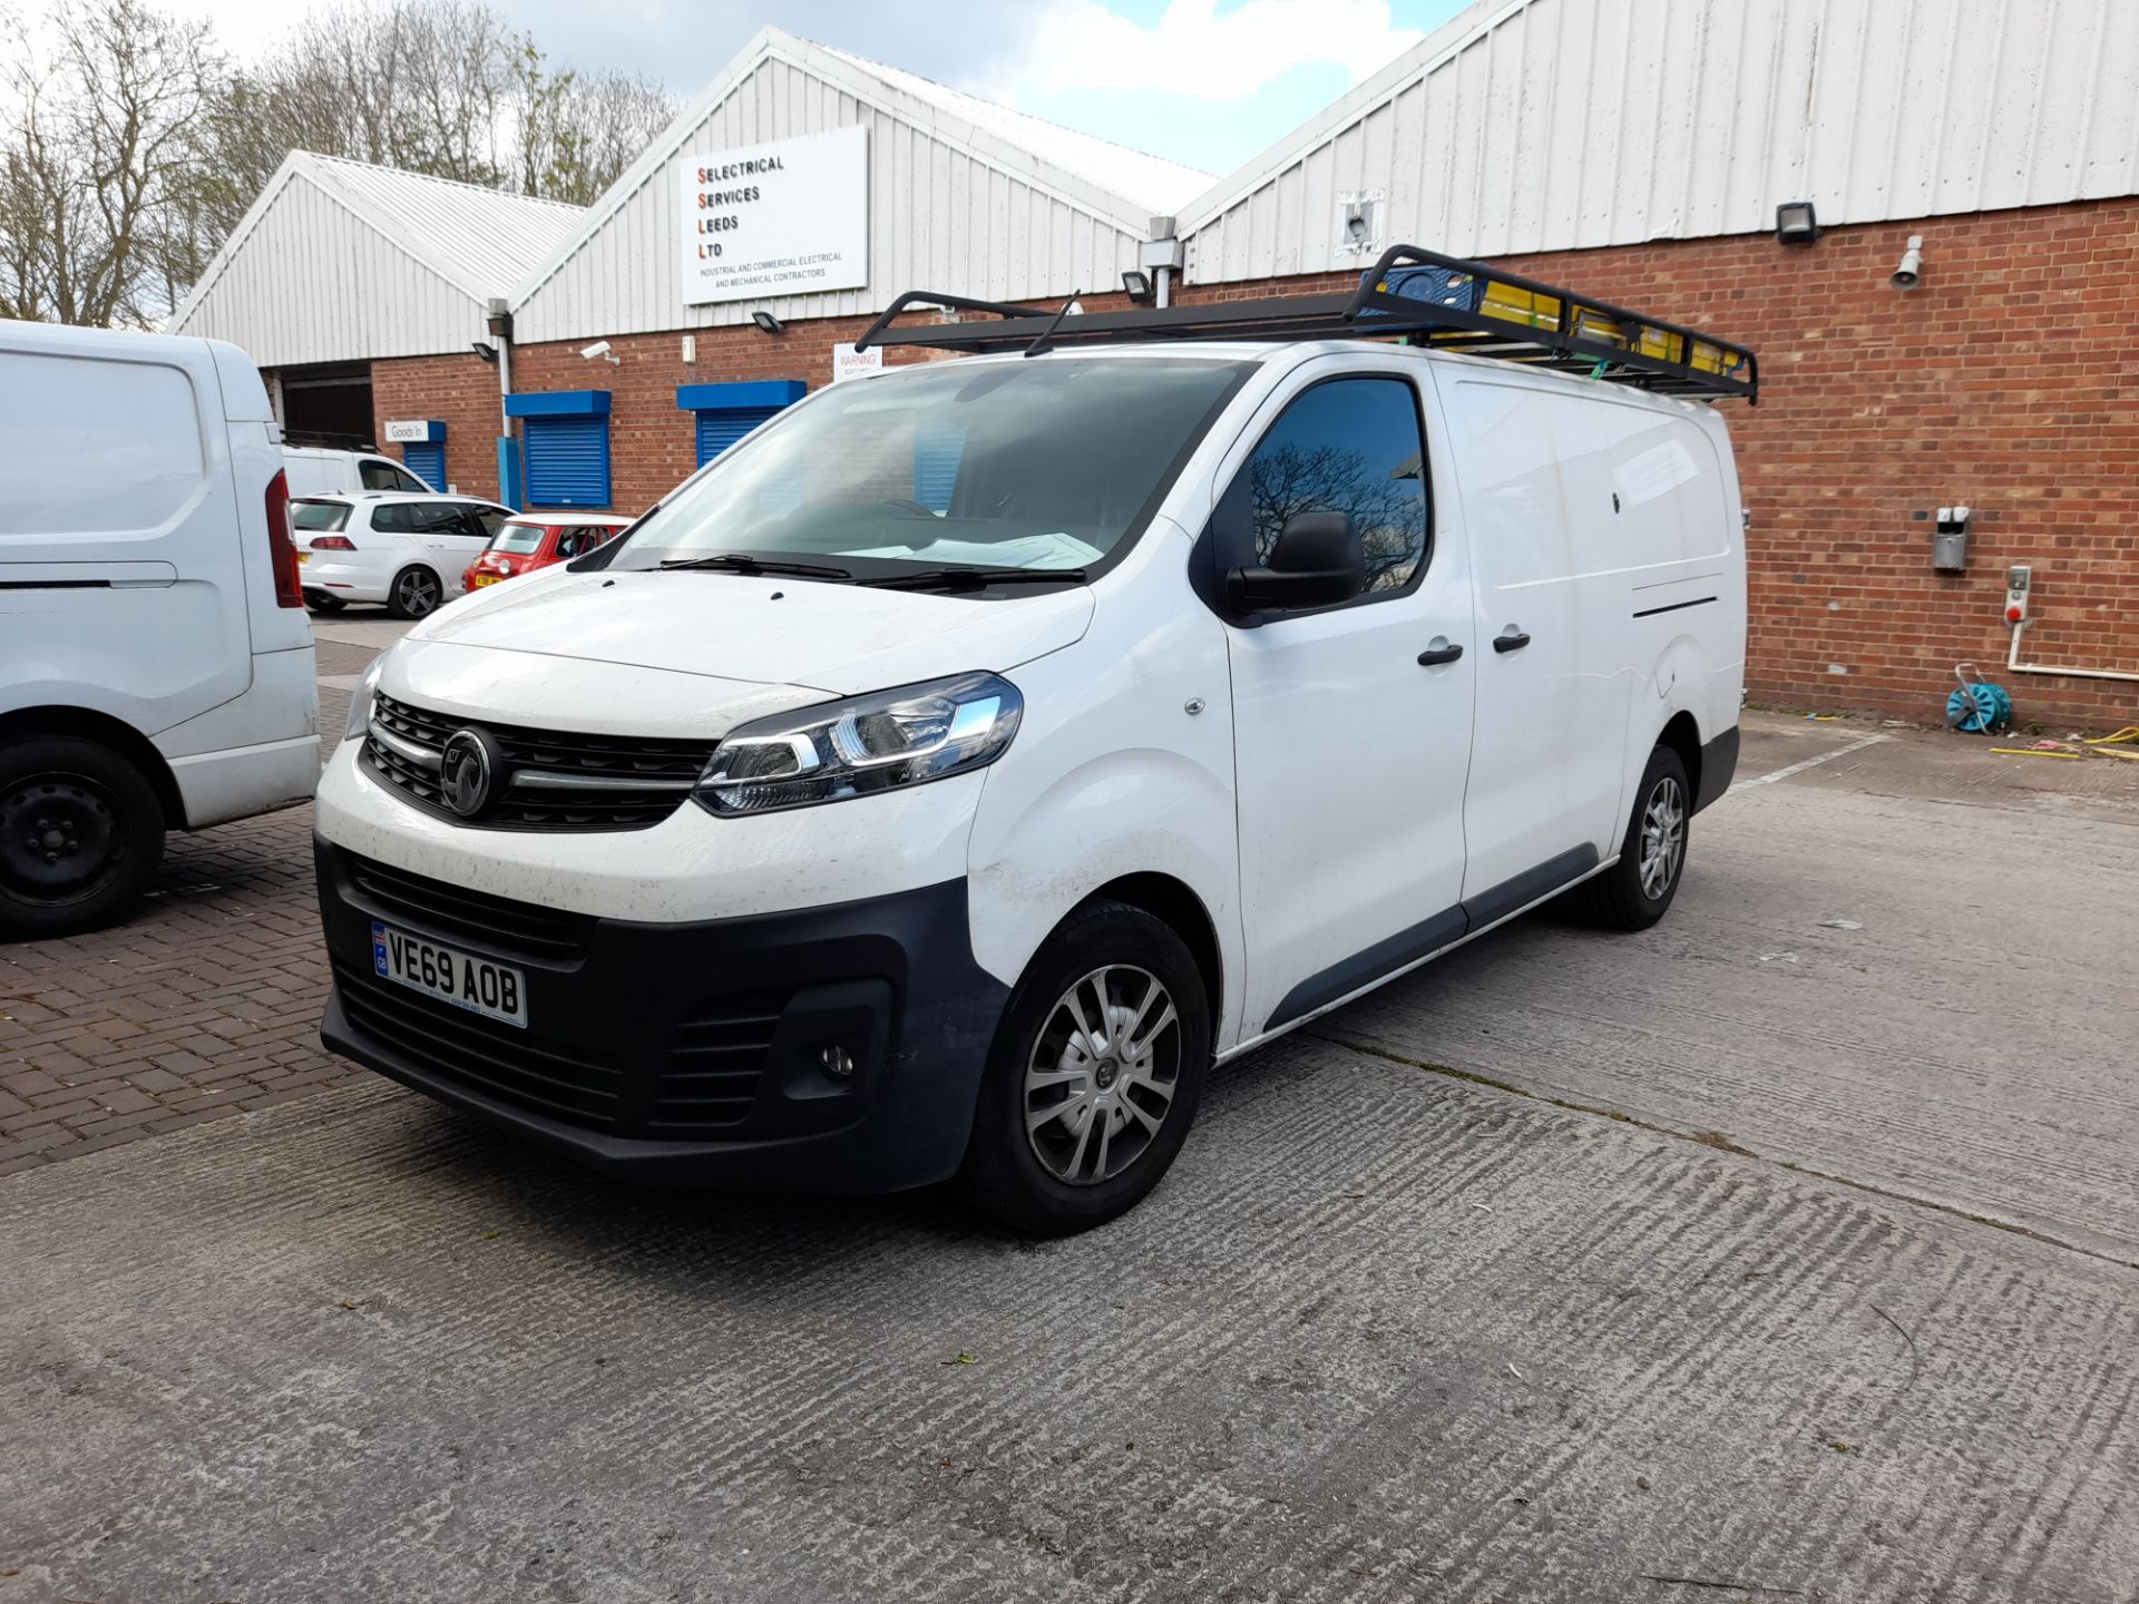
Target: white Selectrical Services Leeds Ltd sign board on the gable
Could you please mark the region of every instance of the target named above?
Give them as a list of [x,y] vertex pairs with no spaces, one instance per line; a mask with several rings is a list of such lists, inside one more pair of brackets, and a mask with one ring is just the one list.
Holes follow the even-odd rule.
[[676,160],[682,299],[761,302],[868,282],[868,130]]

